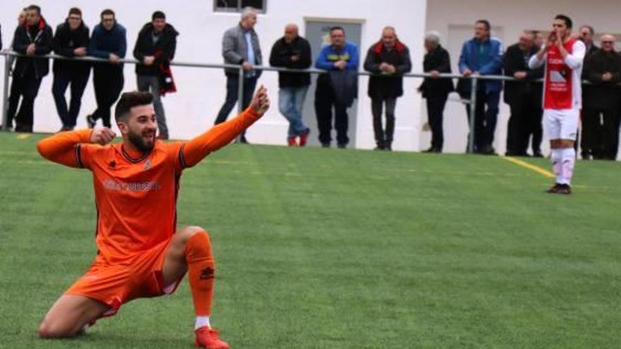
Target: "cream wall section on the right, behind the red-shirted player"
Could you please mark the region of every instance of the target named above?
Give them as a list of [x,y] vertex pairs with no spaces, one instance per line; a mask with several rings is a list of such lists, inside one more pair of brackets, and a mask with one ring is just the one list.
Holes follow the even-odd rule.
[[[619,24],[621,1],[619,0],[523,0],[523,1],[487,1],[487,0],[430,0],[427,8],[426,30],[438,30],[442,35],[442,44],[450,49],[451,63],[457,67],[459,48],[464,39],[472,37],[474,22],[478,19],[490,20],[493,35],[500,37],[505,48],[517,42],[521,30],[550,30],[552,21],[558,13],[564,13],[574,21],[574,30],[580,25],[593,25],[599,35],[610,32],[620,39]],[[465,37],[462,37],[466,35]],[[458,39],[459,38],[459,39]],[[451,42],[453,40],[453,42]],[[597,43],[599,45],[599,43]],[[617,50],[621,49],[618,47]],[[452,97],[457,97],[456,95]],[[495,147],[504,154],[507,139],[507,120],[509,108],[500,102],[500,116],[496,128]],[[423,108],[422,113],[426,115]],[[445,150],[464,152],[466,145],[467,123],[464,106],[450,102],[445,112]],[[424,118],[421,118],[422,122]],[[430,135],[421,135],[421,148],[428,147]],[[544,133],[544,140],[545,140]],[[544,142],[544,147],[546,142]]]

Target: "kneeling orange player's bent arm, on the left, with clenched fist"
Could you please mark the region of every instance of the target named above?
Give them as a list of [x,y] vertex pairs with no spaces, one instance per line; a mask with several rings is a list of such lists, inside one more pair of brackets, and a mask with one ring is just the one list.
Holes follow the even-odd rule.
[[106,145],[115,136],[114,131],[109,128],[66,131],[40,140],[37,143],[37,150],[42,157],[50,161],[70,167],[81,167],[79,149],[76,146],[83,143]]

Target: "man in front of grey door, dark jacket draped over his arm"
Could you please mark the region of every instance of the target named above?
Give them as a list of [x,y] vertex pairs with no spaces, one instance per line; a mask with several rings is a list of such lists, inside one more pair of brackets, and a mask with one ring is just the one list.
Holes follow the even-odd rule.
[[332,142],[332,107],[334,107],[334,128],[337,130],[339,148],[349,143],[347,137],[347,108],[354,103],[358,91],[358,47],[345,39],[342,27],[330,28],[330,45],[319,53],[315,68],[328,73],[320,74],[315,90],[315,114],[322,147]]

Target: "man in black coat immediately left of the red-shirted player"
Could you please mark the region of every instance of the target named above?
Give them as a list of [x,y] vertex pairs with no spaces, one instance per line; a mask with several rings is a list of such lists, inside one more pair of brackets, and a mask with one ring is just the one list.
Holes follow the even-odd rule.
[[543,67],[531,70],[528,65],[531,56],[538,51],[534,36],[533,32],[522,32],[519,42],[508,47],[503,57],[505,75],[518,80],[505,82],[505,103],[511,108],[507,125],[507,156],[526,156],[532,136],[533,156],[542,157],[542,87],[541,82],[533,80],[543,78]]

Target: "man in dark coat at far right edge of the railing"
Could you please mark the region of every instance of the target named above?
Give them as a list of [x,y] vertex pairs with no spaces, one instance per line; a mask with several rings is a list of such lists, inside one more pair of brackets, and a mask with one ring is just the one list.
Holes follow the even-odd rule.
[[[594,159],[615,160],[619,148],[619,95],[621,82],[621,56],[615,51],[615,37],[603,35],[601,49],[584,61],[584,74],[591,91],[584,99],[583,125],[593,131],[586,141]],[[603,125],[600,123],[600,115]],[[600,132],[598,132],[600,131]],[[583,133],[584,137],[586,133]],[[583,144],[583,149],[584,149]]]

